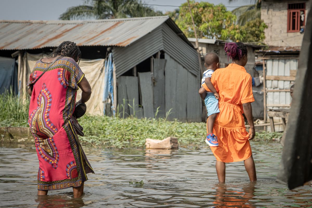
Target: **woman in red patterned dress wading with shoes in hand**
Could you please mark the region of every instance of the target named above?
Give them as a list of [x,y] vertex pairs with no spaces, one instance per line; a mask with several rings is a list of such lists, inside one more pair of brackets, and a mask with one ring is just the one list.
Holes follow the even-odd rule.
[[91,87],[77,64],[81,53],[74,42],[63,42],[52,55],[37,61],[27,83],[33,86],[28,90],[28,122],[39,159],[38,195],[72,187],[76,198],[83,193],[86,174],[94,172],[70,119],[77,89],[82,90],[79,102],[85,103],[90,99]]

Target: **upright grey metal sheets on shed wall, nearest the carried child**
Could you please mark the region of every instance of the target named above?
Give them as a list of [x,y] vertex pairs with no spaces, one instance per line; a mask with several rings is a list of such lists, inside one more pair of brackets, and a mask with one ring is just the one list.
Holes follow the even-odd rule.
[[199,76],[194,76],[168,54],[165,68],[165,110],[170,109],[168,119],[200,122],[202,104],[198,95]]

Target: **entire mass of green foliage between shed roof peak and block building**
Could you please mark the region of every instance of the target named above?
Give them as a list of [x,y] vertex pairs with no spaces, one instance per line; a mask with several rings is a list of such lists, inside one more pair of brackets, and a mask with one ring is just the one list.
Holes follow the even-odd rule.
[[[223,4],[190,1],[198,38],[216,38],[225,41],[262,42],[266,24],[260,18],[247,21],[244,26],[236,24],[237,17],[227,11]],[[188,3],[179,10],[167,12],[187,37],[195,37]]]

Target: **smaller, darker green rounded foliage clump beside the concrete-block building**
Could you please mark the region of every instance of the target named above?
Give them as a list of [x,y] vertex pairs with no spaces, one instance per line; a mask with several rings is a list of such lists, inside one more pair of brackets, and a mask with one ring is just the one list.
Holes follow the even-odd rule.
[[268,28],[266,23],[263,22],[260,18],[246,22],[242,26],[242,30],[245,31],[245,36],[243,42],[259,42],[263,41],[266,36],[264,35],[264,29]]

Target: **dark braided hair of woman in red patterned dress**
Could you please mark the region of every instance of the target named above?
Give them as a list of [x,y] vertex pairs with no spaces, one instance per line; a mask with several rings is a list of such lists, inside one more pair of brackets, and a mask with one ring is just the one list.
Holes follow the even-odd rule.
[[[73,58],[75,61],[79,57],[78,64],[80,62],[81,52],[76,43],[71,41],[62,42],[57,48],[51,53],[51,55],[55,56],[67,56]],[[50,55],[50,56],[51,56]]]

